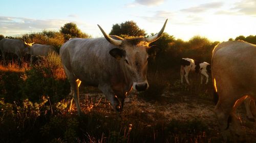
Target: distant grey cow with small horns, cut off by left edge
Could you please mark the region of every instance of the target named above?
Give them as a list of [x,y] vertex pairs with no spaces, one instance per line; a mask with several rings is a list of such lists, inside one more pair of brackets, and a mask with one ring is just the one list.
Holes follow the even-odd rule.
[[0,41],[0,50],[2,52],[3,60],[5,62],[6,53],[13,53],[18,56],[21,61],[22,57],[30,54],[30,46],[34,43],[26,43],[19,39],[2,39]]

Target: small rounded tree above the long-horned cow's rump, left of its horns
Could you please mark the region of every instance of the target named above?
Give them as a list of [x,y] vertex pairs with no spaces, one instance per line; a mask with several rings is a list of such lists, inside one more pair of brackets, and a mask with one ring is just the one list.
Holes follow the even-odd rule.
[[77,27],[77,25],[73,22],[66,23],[62,27],[60,27],[60,32],[64,35],[65,40],[69,40],[70,38],[88,38],[89,36],[86,33],[82,33],[81,30]]

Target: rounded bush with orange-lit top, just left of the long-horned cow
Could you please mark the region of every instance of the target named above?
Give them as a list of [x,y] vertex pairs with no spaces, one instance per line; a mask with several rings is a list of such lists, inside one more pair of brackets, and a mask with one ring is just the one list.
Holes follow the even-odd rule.
[[42,59],[40,65],[35,65],[25,72],[26,80],[23,95],[32,101],[37,101],[40,96],[47,95],[51,102],[56,103],[67,96],[70,84],[61,67],[58,55],[51,53]]

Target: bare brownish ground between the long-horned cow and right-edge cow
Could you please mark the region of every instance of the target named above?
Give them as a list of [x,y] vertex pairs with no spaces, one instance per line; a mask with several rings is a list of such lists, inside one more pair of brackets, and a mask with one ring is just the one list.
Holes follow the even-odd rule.
[[[133,92],[125,99],[123,113],[129,115],[129,113],[136,110],[136,115],[138,113],[146,114],[147,121],[141,121],[146,122],[144,123],[145,126],[152,126],[155,121],[162,119],[165,119],[166,122],[172,120],[187,122],[192,119],[198,119],[208,126],[209,136],[212,138],[220,137],[218,123],[213,112],[215,104],[212,98],[186,95],[181,92],[166,92],[160,98],[161,102],[148,102],[138,98],[137,94]],[[80,102],[82,109],[89,107],[88,102],[93,102],[96,106],[103,103],[105,106],[101,107],[105,108],[104,110],[115,112],[109,105],[109,101],[101,93],[80,95]],[[246,118],[244,104],[238,108],[237,116],[246,131],[247,141],[256,142],[256,124]]]

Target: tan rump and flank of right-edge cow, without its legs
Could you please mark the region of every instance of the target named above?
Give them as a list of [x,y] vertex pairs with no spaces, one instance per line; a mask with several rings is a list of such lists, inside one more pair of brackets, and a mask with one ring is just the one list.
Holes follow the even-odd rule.
[[[224,84],[241,89],[241,94],[256,93],[256,45],[228,41],[212,52],[212,77],[218,87]],[[247,93],[246,93],[247,92]]]

